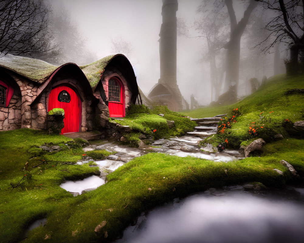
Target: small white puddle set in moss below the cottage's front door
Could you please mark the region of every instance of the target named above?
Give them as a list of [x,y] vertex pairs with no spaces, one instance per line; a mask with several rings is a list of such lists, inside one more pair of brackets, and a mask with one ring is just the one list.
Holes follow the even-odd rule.
[[105,180],[99,176],[90,176],[83,180],[66,181],[60,185],[61,188],[71,192],[74,196],[80,195],[84,190],[94,190],[105,184]]

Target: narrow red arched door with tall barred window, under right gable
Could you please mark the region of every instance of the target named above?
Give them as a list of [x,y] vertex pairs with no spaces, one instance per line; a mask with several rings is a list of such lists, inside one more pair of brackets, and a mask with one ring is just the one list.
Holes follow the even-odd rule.
[[117,78],[109,80],[109,112],[110,117],[125,117],[125,90]]

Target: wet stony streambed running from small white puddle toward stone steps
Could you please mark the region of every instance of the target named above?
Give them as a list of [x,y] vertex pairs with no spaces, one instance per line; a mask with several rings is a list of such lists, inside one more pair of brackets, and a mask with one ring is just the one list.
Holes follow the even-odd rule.
[[159,139],[154,141],[151,146],[142,145],[139,148],[130,148],[128,146],[119,145],[116,141],[96,140],[92,141],[91,145],[83,148],[85,152],[105,149],[109,152],[115,152],[115,155],[109,155],[104,160],[94,161],[90,157],[86,157],[77,162],[77,165],[82,165],[90,161],[94,161],[100,170],[100,176],[90,176],[84,180],[66,181],[60,187],[71,192],[74,196],[81,194],[83,191],[94,190],[97,187],[106,183],[106,176],[112,173],[120,166],[128,163],[135,157],[142,156],[149,152],[159,152],[179,157],[193,156],[201,159],[209,159],[213,161],[232,161],[242,159],[243,154],[238,150],[226,149],[223,152],[218,152],[212,145],[206,145],[199,148],[199,141],[202,139],[192,135],[182,137],[174,137],[170,139]]

